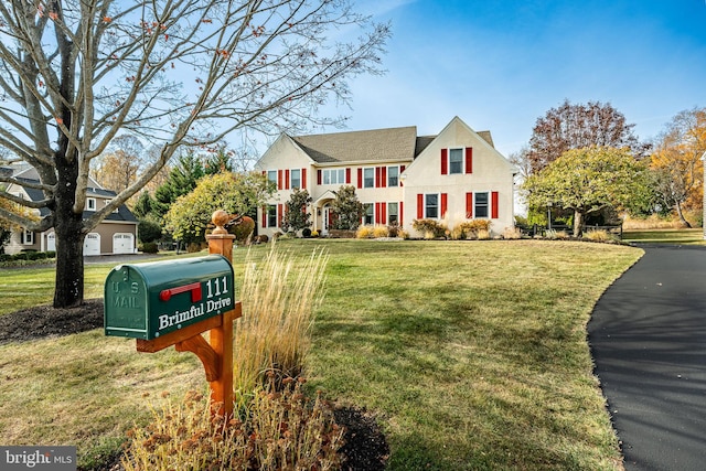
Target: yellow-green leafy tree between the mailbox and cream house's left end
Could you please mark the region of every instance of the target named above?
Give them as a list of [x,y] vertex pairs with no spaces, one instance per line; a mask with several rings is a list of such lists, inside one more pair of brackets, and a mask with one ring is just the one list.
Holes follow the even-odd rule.
[[265,204],[276,191],[277,185],[259,172],[206,175],[191,193],[172,204],[164,215],[165,228],[178,240],[203,242],[214,211],[246,215]]

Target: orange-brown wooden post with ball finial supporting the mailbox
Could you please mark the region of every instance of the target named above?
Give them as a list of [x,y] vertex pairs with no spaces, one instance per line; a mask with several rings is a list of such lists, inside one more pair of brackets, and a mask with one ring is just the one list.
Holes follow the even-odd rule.
[[[228,222],[228,213],[225,211],[216,211],[213,213],[212,222],[216,228],[211,235],[206,236],[208,240],[208,254],[218,254],[227,258],[233,264],[233,240],[235,236],[228,234],[223,227]],[[211,381],[211,399],[214,403],[223,403],[223,414],[225,417],[233,415],[233,321],[240,317],[240,303],[236,303],[237,309],[223,314],[221,325],[211,329],[210,344],[218,357],[220,375]]]

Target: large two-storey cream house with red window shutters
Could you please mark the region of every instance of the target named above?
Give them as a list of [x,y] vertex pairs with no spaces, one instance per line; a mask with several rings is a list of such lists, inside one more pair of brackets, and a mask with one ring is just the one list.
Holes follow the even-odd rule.
[[475,132],[454,117],[438,136],[418,137],[416,127],[290,137],[281,135],[255,165],[278,192],[258,210],[258,233],[280,232],[295,188],[313,203],[313,229],[325,235],[341,185],[354,185],[365,206],[362,223],[491,221],[491,233],[514,226],[513,176],[517,170],[493,146],[490,131]]

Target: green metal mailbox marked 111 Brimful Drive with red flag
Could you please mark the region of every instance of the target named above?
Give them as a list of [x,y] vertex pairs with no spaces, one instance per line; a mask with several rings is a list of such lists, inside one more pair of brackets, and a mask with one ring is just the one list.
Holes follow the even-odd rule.
[[221,255],[118,265],[104,302],[106,335],[153,340],[234,309],[233,267]]

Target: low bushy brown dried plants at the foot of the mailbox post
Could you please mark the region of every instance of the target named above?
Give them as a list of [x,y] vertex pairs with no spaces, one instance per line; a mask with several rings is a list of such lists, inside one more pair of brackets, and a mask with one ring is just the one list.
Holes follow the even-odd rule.
[[258,388],[227,422],[212,416],[208,397],[152,408],[152,421],[128,433],[126,471],[335,470],[344,430],[320,395],[301,392],[303,379]]

